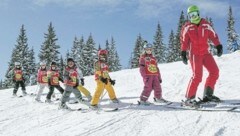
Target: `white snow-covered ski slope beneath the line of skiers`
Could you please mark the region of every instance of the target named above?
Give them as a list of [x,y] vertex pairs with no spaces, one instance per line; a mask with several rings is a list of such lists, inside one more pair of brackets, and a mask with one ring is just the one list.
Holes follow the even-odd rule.
[[[216,57],[220,78],[215,95],[222,99],[240,100],[240,52]],[[184,99],[191,77],[189,65],[182,62],[159,65],[162,74],[163,96],[180,102]],[[202,97],[207,76],[197,97]],[[139,99],[143,82],[138,69],[111,73],[116,79],[114,86],[122,106]],[[94,77],[86,77],[85,87],[93,94]],[[35,91],[36,86],[27,87]],[[44,101],[47,89],[42,97]],[[58,93],[57,91],[55,91]],[[21,90],[18,91],[18,94]],[[0,135],[1,136],[165,136],[165,135],[239,135],[240,113],[200,112],[173,110],[161,107],[133,107],[118,112],[67,112],[58,110],[57,104],[36,103],[34,98],[11,98],[12,89],[0,90]],[[152,95],[149,99],[152,101]],[[105,95],[101,104],[108,103]],[[84,107],[81,104],[70,107]]]

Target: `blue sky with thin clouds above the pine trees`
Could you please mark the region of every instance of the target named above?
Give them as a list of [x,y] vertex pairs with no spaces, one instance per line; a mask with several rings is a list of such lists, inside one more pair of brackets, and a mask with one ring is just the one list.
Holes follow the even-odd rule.
[[139,33],[152,42],[159,22],[167,43],[171,29],[177,28],[180,12],[186,13],[192,4],[200,7],[202,17],[212,17],[223,45],[226,45],[226,19],[231,5],[235,29],[240,33],[237,0],[1,0],[0,79],[4,78],[22,24],[37,61],[44,33],[52,22],[64,57],[75,36],[83,36],[86,40],[92,33],[96,44],[102,46],[113,36],[121,64],[126,67]]

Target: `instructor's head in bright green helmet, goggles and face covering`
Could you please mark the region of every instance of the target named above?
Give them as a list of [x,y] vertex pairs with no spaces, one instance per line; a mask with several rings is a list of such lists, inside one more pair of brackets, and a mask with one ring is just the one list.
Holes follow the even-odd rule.
[[[201,18],[199,16],[199,8],[196,5],[189,6],[187,13],[188,13],[191,23],[199,24],[199,22],[201,21]],[[195,13],[195,15],[194,15],[194,13]],[[193,14],[193,15],[191,15],[191,14]]]

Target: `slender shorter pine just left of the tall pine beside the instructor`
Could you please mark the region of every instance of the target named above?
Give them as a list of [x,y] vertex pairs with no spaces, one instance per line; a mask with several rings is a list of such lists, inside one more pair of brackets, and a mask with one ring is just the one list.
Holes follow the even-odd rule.
[[168,51],[167,51],[167,62],[174,62],[175,61],[175,36],[173,30],[171,30],[169,38],[168,38]]

